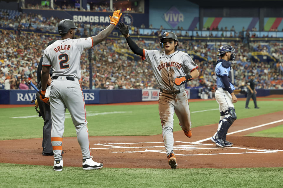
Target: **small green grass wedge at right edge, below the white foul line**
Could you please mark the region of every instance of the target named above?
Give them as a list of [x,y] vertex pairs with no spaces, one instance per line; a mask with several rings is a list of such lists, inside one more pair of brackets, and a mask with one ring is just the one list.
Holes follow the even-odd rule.
[[246,136],[283,138],[283,125],[272,127],[266,130],[259,131],[259,132],[253,132]]

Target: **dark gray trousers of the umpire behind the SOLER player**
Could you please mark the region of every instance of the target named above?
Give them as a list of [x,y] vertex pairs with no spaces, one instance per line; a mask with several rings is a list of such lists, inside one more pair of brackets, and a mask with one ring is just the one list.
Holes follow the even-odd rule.
[[42,128],[42,152],[45,153],[51,153],[52,145],[51,145],[51,112],[50,112],[50,106],[47,105],[45,102],[40,100],[40,94],[36,93],[36,99],[38,103],[38,107],[40,110],[40,114],[42,116],[42,119],[44,120],[43,128]]

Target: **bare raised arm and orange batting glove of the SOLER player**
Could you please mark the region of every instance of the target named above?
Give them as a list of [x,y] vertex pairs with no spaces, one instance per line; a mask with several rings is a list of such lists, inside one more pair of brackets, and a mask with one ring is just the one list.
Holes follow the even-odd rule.
[[109,16],[110,25],[106,29],[100,31],[96,36],[91,37],[93,39],[93,46],[104,41],[110,35],[112,30],[118,24],[121,15],[122,13],[120,13],[120,10],[116,10],[114,11],[113,16]]

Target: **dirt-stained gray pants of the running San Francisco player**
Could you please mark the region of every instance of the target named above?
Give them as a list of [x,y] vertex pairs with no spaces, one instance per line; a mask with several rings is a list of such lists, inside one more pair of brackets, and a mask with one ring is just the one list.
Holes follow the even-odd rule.
[[159,93],[159,115],[162,125],[162,137],[167,156],[173,151],[173,116],[176,113],[183,130],[191,128],[190,108],[187,92],[178,94]]

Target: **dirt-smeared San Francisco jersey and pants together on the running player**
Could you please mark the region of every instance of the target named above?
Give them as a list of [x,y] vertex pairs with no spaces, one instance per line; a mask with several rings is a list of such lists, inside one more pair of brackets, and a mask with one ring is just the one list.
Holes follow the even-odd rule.
[[181,90],[178,94],[159,93],[159,115],[162,124],[162,136],[167,157],[174,153],[173,116],[176,113],[182,130],[188,132],[191,128],[190,108],[185,85],[175,85],[177,76],[185,76],[198,68],[192,58],[185,52],[175,51],[166,55],[163,51],[143,49],[142,60],[148,62],[153,69],[157,84],[161,89]]

